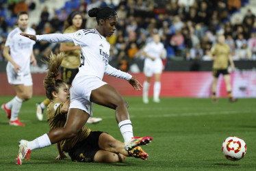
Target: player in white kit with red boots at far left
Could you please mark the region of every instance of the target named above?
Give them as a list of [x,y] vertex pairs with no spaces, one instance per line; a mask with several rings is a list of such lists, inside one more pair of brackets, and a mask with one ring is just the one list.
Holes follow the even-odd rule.
[[17,15],[18,27],[8,35],[3,49],[3,56],[8,60],[6,73],[8,82],[14,87],[16,96],[11,101],[1,105],[10,125],[24,126],[18,119],[18,113],[23,101],[29,100],[33,93],[30,64],[36,66],[36,58],[33,53],[35,42],[21,36],[20,33],[36,35],[36,31],[27,27],[29,16],[27,12]]

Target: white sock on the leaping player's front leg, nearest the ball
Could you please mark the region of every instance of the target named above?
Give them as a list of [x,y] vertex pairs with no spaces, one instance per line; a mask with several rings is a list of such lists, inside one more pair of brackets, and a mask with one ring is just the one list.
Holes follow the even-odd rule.
[[123,120],[119,122],[118,127],[123,135],[123,139],[125,140],[125,142],[129,142],[133,137],[131,120]]

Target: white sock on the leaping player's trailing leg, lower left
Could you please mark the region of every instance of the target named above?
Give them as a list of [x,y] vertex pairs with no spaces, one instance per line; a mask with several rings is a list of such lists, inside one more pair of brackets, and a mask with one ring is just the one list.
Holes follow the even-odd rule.
[[47,133],[44,133],[44,135],[37,137],[35,140],[27,143],[27,147],[30,150],[34,150],[37,148],[44,148],[46,146],[51,146],[51,141]]

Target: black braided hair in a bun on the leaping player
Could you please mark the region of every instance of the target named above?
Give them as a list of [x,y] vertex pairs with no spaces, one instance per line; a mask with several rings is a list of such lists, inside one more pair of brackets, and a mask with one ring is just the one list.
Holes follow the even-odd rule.
[[96,17],[97,23],[103,19],[103,21],[110,19],[112,16],[117,16],[115,10],[110,7],[92,8],[89,10],[88,15],[90,17]]

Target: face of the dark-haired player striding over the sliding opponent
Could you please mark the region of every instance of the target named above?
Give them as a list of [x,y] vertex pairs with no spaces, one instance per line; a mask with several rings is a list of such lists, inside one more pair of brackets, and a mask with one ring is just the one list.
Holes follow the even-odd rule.
[[103,25],[103,36],[104,37],[110,37],[112,34],[114,34],[114,31],[116,30],[116,25],[118,24],[118,18],[117,16],[112,16],[110,19],[105,20]]

